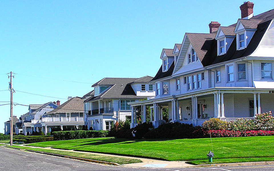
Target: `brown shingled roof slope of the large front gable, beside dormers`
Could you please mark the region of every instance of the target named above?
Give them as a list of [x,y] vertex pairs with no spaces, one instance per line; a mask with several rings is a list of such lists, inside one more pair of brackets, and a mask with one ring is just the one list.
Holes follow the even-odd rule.
[[208,40],[213,40],[216,33],[186,33],[200,61],[203,60],[208,46]]

